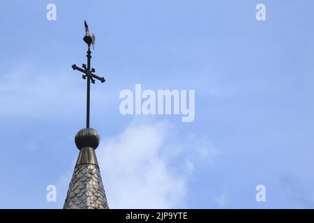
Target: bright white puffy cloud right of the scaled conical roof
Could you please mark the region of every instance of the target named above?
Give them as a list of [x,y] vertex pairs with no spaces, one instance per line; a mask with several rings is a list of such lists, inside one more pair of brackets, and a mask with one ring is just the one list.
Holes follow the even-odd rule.
[[190,174],[216,155],[206,137],[167,122],[134,122],[97,150],[110,208],[187,208]]

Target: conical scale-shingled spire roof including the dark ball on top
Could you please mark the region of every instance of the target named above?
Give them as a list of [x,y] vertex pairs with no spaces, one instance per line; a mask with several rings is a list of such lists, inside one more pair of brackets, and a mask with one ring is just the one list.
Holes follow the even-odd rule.
[[64,209],[108,209],[103,181],[96,158],[95,149],[100,141],[93,128],[77,132],[75,144],[80,149]]

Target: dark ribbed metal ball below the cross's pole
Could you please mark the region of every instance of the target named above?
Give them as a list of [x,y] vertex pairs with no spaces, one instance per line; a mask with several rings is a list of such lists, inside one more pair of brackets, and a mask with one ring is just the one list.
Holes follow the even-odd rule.
[[91,147],[96,149],[100,142],[100,136],[94,128],[83,128],[75,135],[75,145],[78,149]]

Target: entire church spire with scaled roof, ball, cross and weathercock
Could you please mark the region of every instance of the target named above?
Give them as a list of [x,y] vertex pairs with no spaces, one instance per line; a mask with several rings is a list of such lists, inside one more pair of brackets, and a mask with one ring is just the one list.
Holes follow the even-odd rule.
[[73,70],[83,73],[82,78],[87,79],[87,122],[86,128],[77,132],[75,144],[80,150],[75,164],[74,173],[70,181],[64,209],[108,209],[105,189],[100,176],[100,169],[97,162],[95,150],[99,145],[100,136],[96,130],[89,128],[89,105],[90,105],[90,84],[95,84],[95,79],[105,82],[103,77],[94,74],[95,69],[91,68],[91,44],[94,46],[95,36],[89,34],[87,22],[85,25],[84,42],[87,43],[87,66],[83,63],[82,68],[75,64]]

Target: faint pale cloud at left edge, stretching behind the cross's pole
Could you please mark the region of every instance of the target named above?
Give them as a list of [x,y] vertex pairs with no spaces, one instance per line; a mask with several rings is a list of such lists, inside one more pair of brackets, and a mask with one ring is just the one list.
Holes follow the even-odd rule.
[[[22,65],[0,75],[0,118],[72,118],[85,111],[86,85],[80,73],[67,70],[43,70]],[[97,92],[93,102],[105,107],[112,100],[110,91]],[[101,98],[101,100],[99,100]],[[77,114],[78,115],[78,114]]]

